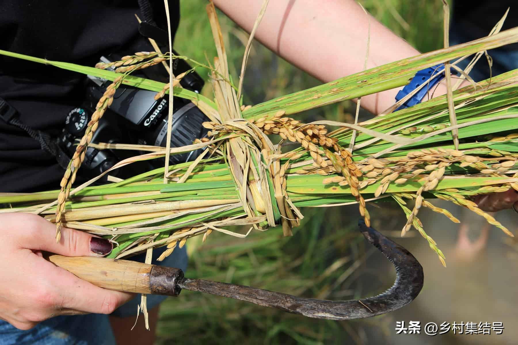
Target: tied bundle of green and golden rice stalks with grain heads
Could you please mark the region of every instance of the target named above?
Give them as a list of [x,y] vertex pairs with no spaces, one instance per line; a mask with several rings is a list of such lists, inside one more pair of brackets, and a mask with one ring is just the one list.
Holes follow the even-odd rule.
[[[401,87],[416,71],[441,62],[476,53],[474,59],[478,59],[485,50],[518,41],[518,28],[498,33],[497,25],[486,38],[245,107],[238,96],[241,85],[235,87],[228,73],[212,4],[208,5],[208,13],[218,57],[214,58],[213,66],[203,66],[212,71],[214,100],[180,88],[178,83],[183,75],[171,74],[168,84],[130,75],[175,58],[188,59],[185,56],[138,52],[119,62],[90,68],[1,51],[113,81],[97,103],[62,179],[61,189],[2,194],[0,203],[9,207],[1,212],[44,216],[56,223],[58,241],[61,227],[104,236],[116,244],[109,254],[111,258],[167,246],[159,259],[162,260],[192,236],[203,235],[205,241],[212,231],[237,237],[248,234],[225,229],[235,225],[248,225],[249,232],[281,225],[284,234],[290,235],[291,228],[303,217],[299,207],[304,206],[357,203],[359,213],[369,223],[367,203],[384,198],[395,200],[407,215],[402,233],[411,227],[417,229],[443,264],[442,252],[418,218],[419,209],[429,207],[454,222],[458,220],[425,198],[444,199],[467,207],[512,236],[470,199],[477,194],[518,190],[518,70],[472,83],[453,93],[452,81],[447,78],[447,95],[394,113],[386,111],[357,125],[331,121],[304,124],[292,116],[329,103]],[[245,64],[246,58],[241,79]],[[116,71],[105,70],[107,67]],[[462,78],[465,77],[466,73],[462,72]],[[157,99],[169,94],[170,102],[173,95],[192,100],[210,119],[204,124],[210,129],[208,138],[180,148],[92,144],[98,119],[122,84],[156,91]],[[330,130],[330,127],[339,128]],[[280,143],[274,145],[272,136],[280,137]],[[294,145],[284,145],[287,142]],[[92,186],[103,176],[100,175],[72,188],[88,146],[150,151],[117,163],[103,175],[139,160],[166,157],[166,166],[123,181],[112,178],[110,184]],[[287,151],[285,147],[295,148]],[[195,161],[168,166],[169,155],[199,148],[204,151]],[[408,207],[407,201],[413,201],[414,206]]]

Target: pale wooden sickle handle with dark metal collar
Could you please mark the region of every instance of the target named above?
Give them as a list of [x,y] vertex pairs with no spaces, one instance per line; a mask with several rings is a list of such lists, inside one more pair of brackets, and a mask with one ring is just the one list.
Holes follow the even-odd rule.
[[178,296],[183,279],[180,268],[148,265],[136,261],[97,257],[63,257],[47,260],[100,288],[144,294]]

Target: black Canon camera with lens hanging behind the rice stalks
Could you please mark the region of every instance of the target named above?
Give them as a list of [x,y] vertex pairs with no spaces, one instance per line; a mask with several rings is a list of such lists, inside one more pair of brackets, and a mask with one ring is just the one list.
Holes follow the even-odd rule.
[[[109,62],[105,57],[102,62]],[[183,60],[175,59],[173,73],[178,75],[191,67]],[[110,81],[88,76],[87,95],[78,107],[70,110],[65,120],[65,127],[57,138],[57,144],[72,157],[77,141],[82,138],[95,111],[95,105],[110,85]],[[200,92],[203,79],[195,71],[185,75],[181,84],[193,92]],[[156,93],[134,87],[119,87],[113,96],[111,106],[99,119],[97,130],[92,136],[92,143],[132,143],[153,146],[166,146],[169,100],[168,95],[155,100]],[[171,147],[190,145],[197,138],[207,135],[202,123],[209,121],[190,100],[175,97],[173,102]],[[194,160],[200,150],[184,154],[171,155],[170,164]],[[110,169],[118,161],[134,156],[135,152],[121,149],[96,149],[88,147],[79,175],[91,178]],[[164,159],[149,161],[153,167],[160,167]],[[119,170],[119,169],[118,169]],[[114,170],[111,175],[120,172]],[[142,172],[142,171],[140,171]],[[133,172],[133,174],[135,171]],[[121,176],[122,177],[122,176]]]

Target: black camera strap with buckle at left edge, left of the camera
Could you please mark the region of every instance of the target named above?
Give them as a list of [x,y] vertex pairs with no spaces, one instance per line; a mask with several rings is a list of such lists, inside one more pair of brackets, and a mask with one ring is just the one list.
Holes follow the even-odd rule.
[[33,129],[21,122],[18,118],[18,112],[16,109],[7,103],[3,98],[0,98],[0,118],[2,118],[6,124],[16,126],[27,132],[31,138],[38,141],[44,151],[50,153],[56,158],[57,163],[59,163],[63,169],[68,167],[68,162],[70,159],[61,149],[61,147],[57,145],[56,141],[53,140],[48,133]]

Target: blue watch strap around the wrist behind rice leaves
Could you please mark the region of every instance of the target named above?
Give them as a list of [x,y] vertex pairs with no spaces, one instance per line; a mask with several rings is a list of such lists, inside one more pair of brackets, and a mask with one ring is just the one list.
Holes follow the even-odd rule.
[[[442,73],[434,78],[433,80],[428,80],[433,76],[434,74],[441,72]],[[452,74],[457,74],[457,71],[450,70]],[[396,102],[402,99],[403,97],[407,96],[409,93],[414,91],[416,88],[418,88],[420,85],[426,83],[427,85],[420,89],[418,93],[410,97],[405,103],[401,104],[399,108],[396,109],[396,111],[400,109],[405,109],[408,107],[415,106],[415,104],[418,104],[423,100],[424,96],[430,91],[437,83],[439,83],[444,78],[444,64],[439,64],[436,66],[428,67],[426,69],[423,69],[417,73],[415,73],[415,77],[412,78],[410,83],[406,85],[402,90],[400,90],[396,95]]]

